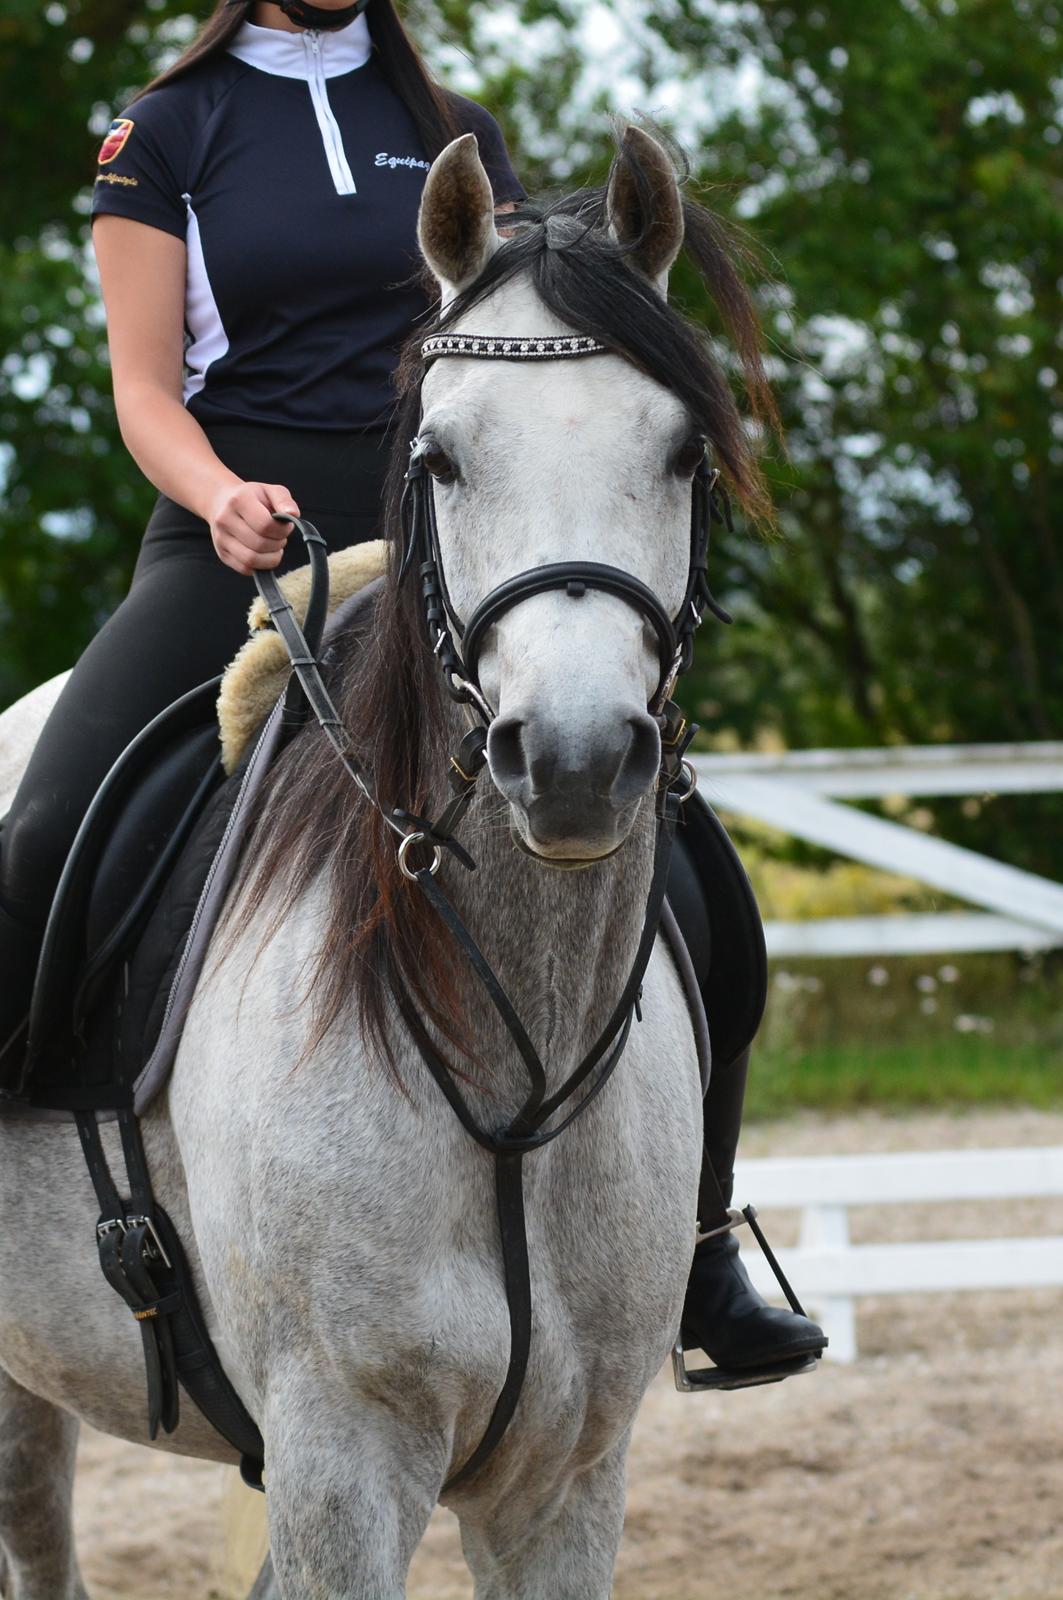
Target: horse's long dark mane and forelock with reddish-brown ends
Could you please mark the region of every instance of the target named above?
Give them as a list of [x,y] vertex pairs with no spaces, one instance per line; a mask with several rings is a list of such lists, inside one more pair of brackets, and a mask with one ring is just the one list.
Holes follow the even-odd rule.
[[[631,146],[616,163],[629,165],[639,192],[652,195],[648,173]],[[564,195],[549,205],[519,206],[506,224],[512,237],[490,258],[480,277],[459,293],[434,328],[448,326],[501,283],[525,274],[543,302],[578,333],[623,352],[644,373],[685,403],[690,421],[708,437],[716,462],[746,514],[770,523],[770,502],[751,438],[730,386],[703,330],[668,304],[640,272],[631,246],[618,245],[605,227],[607,186]],[[548,243],[546,218],[578,219],[564,250]],[[732,230],[698,202],[684,197],[684,250],[708,288],[722,331],[738,355],[752,416],[767,429],[778,422],[759,354],[757,315],[735,262],[748,259]],[[645,214],[645,230],[656,218]],[[645,237],[645,234],[642,235]],[[427,646],[415,582],[397,582],[402,550],[400,496],[408,442],[418,430],[421,403],[419,328],[403,349],[397,371],[400,405],[384,496],[384,530],[391,544],[389,579],[376,605],[371,637],[338,640],[330,669],[339,714],[359,755],[373,774],[383,806],[439,814],[445,798],[448,718],[440,672]],[[282,752],[259,802],[248,842],[247,893],[232,936],[250,928],[271,890],[282,885],[271,914],[283,917],[328,874],[328,902],[312,978],[319,1042],[357,997],[362,1026],[394,1061],[389,1037],[392,995],[405,992],[419,1013],[474,1061],[467,1043],[467,990],[447,936],[419,890],[400,875],[394,835],[373,806],[362,802],[331,747],[315,726]],[[263,942],[271,928],[263,928]],[[227,944],[232,949],[232,944]]]

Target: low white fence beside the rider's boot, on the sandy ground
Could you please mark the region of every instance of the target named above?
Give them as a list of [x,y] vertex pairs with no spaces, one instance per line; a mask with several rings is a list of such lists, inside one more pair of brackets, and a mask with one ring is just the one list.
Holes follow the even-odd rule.
[[[776,1256],[826,1328],[836,1362],[856,1358],[855,1301],[863,1294],[1063,1286],[1063,1235],[906,1245],[853,1245],[848,1237],[853,1205],[1063,1195],[1063,1146],[740,1162],[735,1194],[757,1210],[800,1210],[797,1248]],[[743,1245],[752,1282],[778,1298],[764,1256]]]

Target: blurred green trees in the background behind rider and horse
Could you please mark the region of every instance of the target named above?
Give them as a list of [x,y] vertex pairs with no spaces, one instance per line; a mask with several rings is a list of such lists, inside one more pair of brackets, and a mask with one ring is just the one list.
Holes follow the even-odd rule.
[[[3,0],[0,702],[123,594],[154,490],[114,421],[88,240],[98,142],[207,6]],[[600,181],[645,110],[765,253],[781,538],[736,533],[690,691],[712,742],[1063,726],[1063,19],[1052,0],[410,0],[528,189]],[[714,328],[682,270],[674,291]],[[1057,800],[935,802],[1063,874]]]

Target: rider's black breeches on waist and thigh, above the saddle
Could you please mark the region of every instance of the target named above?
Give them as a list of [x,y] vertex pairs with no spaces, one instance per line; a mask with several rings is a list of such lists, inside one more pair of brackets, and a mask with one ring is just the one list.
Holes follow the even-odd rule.
[[[330,549],[379,534],[389,440],[258,424],[205,429],[248,482],[282,483]],[[280,571],[306,560],[293,531]],[[66,854],[112,762],[152,717],[221,672],[247,638],[255,582],[216,555],[210,528],[160,494],[133,582],[74,667],[3,826],[0,902],[43,930]]]

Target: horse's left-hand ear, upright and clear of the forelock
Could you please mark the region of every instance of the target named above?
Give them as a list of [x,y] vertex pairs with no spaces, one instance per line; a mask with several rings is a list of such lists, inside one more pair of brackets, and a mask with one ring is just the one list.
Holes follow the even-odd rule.
[[495,195],[474,133],[432,162],[418,213],[421,254],[439,278],[443,304],[480,275],[501,245]]

